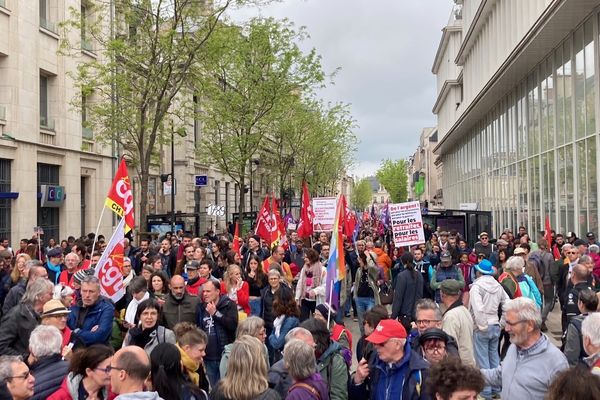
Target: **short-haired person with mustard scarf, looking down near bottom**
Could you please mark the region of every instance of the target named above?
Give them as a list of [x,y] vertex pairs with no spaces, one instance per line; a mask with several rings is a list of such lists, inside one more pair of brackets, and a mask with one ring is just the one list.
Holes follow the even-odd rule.
[[181,365],[187,379],[205,392],[209,389],[208,378],[204,370],[204,355],[208,337],[195,324],[180,322],[173,328],[176,346],[181,354]]

